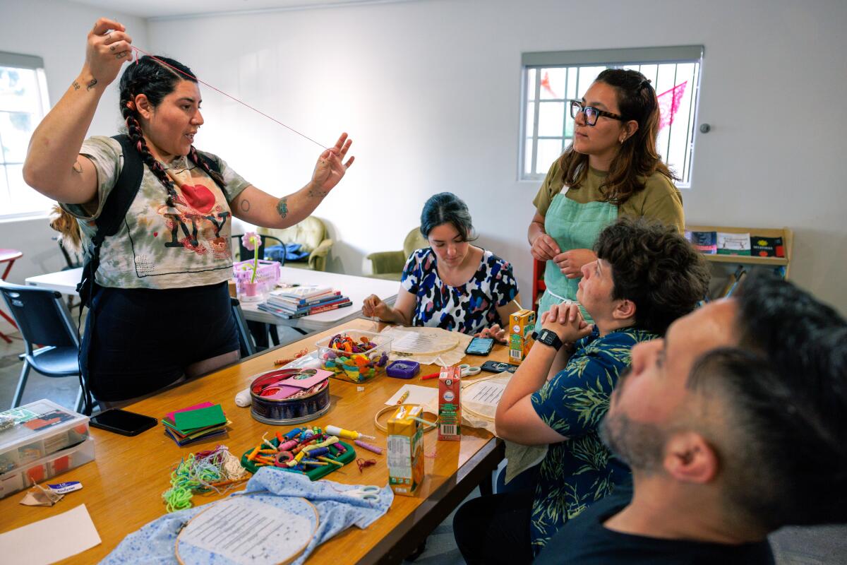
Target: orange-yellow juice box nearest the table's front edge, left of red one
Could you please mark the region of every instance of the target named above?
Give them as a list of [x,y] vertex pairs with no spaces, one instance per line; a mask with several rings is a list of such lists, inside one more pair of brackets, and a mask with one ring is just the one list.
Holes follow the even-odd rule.
[[424,482],[424,409],[399,407],[388,420],[388,484],[394,494],[414,496]]

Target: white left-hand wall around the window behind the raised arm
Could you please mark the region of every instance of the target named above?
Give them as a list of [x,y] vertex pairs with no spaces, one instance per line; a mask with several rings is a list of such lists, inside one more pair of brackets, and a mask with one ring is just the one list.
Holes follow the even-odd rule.
[[[47,91],[50,102],[55,104],[82,69],[86,34],[102,15],[106,15],[102,9],[68,2],[0,0],[0,51],[43,58]],[[124,24],[134,41],[147,42],[143,19],[108,15]],[[119,119],[118,91],[112,86],[102,97],[90,133],[114,135]],[[47,225],[47,219],[0,221],[0,247],[24,252],[24,257],[14,263],[9,282],[22,284],[26,277],[64,267],[64,258],[50,239],[53,235],[56,232]],[[8,324],[0,319],[0,331],[8,330]]]

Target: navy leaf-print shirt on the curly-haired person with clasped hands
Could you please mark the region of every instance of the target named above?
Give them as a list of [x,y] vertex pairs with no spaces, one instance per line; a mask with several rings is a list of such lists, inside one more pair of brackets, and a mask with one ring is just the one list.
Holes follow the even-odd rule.
[[628,479],[629,468],[600,440],[598,426],[633,346],[656,337],[634,328],[601,337],[595,329],[576,342],[565,368],[531,396],[535,413],[568,438],[551,444],[539,468],[529,522],[535,554],[567,520]]

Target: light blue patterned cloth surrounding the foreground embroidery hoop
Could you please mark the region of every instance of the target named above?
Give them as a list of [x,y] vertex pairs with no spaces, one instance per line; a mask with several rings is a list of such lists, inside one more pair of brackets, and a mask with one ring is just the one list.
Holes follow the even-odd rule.
[[[318,509],[318,530],[300,557],[292,562],[292,565],[300,565],[306,561],[315,547],[332,536],[353,525],[361,529],[367,528],[377,518],[388,512],[391,501],[394,500],[394,493],[388,485],[379,490],[377,493],[379,499],[375,501],[363,501],[357,496],[345,494],[345,491],[357,489],[359,486],[361,485],[341,485],[326,479],[313,482],[306,475],[261,468],[252,479],[247,481],[243,492],[268,490],[268,495],[257,496],[261,496],[264,503],[280,508],[289,507],[292,496],[302,497],[312,502]],[[164,510],[164,505],[162,508]],[[205,506],[188,508],[166,514],[147,523],[137,532],[127,535],[101,563],[178,565],[174,553],[176,536],[180,533],[180,529],[204,508]],[[230,563],[230,560],[221,558],[213,562],[225,564]]]

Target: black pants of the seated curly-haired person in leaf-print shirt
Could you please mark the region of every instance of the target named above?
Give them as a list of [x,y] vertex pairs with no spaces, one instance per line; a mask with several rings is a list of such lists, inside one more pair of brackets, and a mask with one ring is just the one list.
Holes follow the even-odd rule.
[[453,535],[468,565],[532,562],[532,501],[533,491],[522,490],[465,502],[453,517]]

